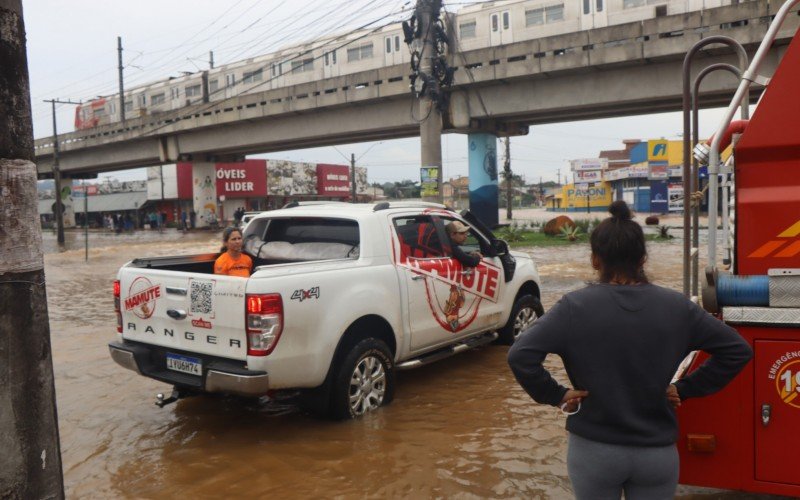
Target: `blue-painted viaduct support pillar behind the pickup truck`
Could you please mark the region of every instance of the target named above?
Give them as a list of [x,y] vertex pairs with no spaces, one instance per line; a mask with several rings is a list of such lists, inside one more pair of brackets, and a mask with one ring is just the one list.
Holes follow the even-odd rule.
[[471,133],[469,145],[469,210],[487,227],[497,226],[497,136]]

